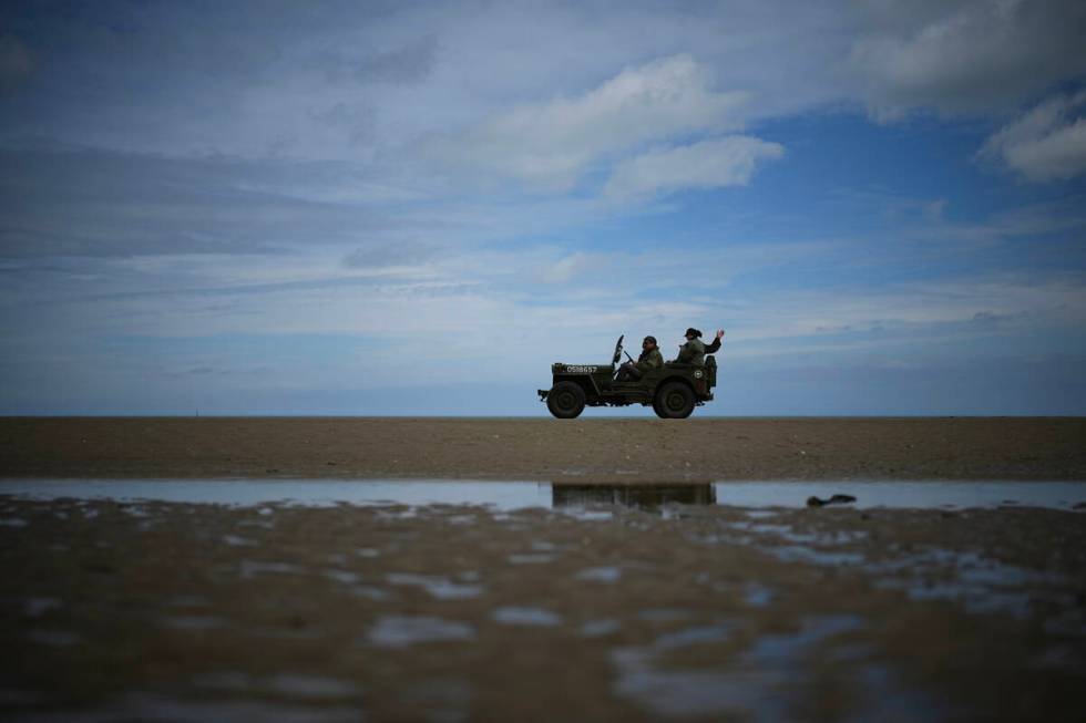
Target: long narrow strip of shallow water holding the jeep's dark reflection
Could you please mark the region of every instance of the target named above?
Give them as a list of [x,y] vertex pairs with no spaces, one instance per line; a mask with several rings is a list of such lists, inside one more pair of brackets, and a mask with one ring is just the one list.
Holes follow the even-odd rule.
[[[1073,509],[1086,503],[1086,482],[718,482],[714,484],[566,485],[461,479],[0,479],[0,495],[52,499],[351,505],[485,505],[500,510],[622,505],[643,509],[674,504],[802,507],[808,497],[847,494],[857,508],[967,508],[1028,506]],[[133,514],[139,513],[134,509]],[[590,513],[591,514],[591,513]],[[4,517],[0,525],[23,520]]]

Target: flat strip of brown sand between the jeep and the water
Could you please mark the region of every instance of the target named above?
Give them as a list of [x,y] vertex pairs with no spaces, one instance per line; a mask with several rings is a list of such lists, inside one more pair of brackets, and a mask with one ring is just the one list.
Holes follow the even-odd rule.
[[3,476],[1086,479],[1086,419],[8,417]]

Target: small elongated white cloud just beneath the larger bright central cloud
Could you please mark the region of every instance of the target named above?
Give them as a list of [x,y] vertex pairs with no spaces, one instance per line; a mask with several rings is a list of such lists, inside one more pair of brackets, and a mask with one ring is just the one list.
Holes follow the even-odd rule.
[[619,163],[604,194],[623,200],[680,188],[741,186],[759,162],[780,158],[785,147],[746,135],[701,141],[678,148],[659,148]]

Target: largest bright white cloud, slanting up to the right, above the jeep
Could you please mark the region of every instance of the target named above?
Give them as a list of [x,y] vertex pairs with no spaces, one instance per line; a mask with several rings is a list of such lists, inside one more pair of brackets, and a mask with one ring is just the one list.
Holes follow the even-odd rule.
[[687,54],[627,68],[576,97],[520,105],[431,148],[457,165],[554,189],[594,161],[683,133],[738,126],[745,95],[710,90]]

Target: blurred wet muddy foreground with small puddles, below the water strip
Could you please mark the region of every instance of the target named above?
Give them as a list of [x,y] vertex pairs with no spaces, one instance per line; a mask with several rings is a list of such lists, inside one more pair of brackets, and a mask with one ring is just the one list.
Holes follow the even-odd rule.
[[1086,710],[1074,512],[9,497],[0,569],[4,720]]

